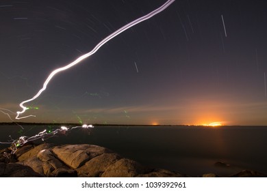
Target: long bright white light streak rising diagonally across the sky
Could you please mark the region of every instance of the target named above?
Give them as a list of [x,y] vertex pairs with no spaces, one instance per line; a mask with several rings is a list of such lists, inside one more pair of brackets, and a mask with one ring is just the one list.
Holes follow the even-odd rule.
[[47,89],[47,85],[49,84],[50,80],[53,78],[53,76],[55,76],[56,74],[64,71],[64,70],[68,70],[69,68],[73,67],[74,65],[76,65],[77,63],[80,63],[81,61],[83,61],[84,59],[86,59],[87,57],[90,57],[91,55],[93,55],[94,53],[97,52],[97,50],[99,50],[99,48],[101,48],[101,46],[103,46],[105,43],[107,43],[108,41],[112,40],[112,38],[116,37],[116,35],[119,35],[120,33],[122,33],[123,31],[133,27],[134,25],[137,25],[138,23],[141,23],[144,20],[147,20],[153,16],[155,16],[156,14],[159,14],[160,12],[162,12],[163,10],[165,10],[166,8],[168,8],[168,6],[173,3],[175,0],[168,0],[166,1],[166,3],[164,3],[162,6],[160,6],[160,8],[157,8],[156,10],[153,10],[152,12],[150,12],[149,14],[142,16],[140,18],[137,18],[136,20],[131,21],[131,23],[128,23],[127,25],[121,27],[120,29],[114,31],[114,33],[111,33],[110,35],[108,35],[106,38],[104,38],[103,40],[101,40],[101,42],[99,42],[99,44],[97,44],[97,46],[95,46],[89,53],[86,53],[85,55],[81,55],[81,57],[77,58],[75,61],[68,63],[67,65],[65,65],[62,68],[58,68],[56,70],[53,70],[53,72],[51,72],[51,74],[49,74],[47,80],[44,81],[44,84],[42,86],[42,89],[40,89],[38,91],[38,93],[36,93],[36,95],[34,95],[33,98],[29,99],[29,100],[25,100],[23,102],[21,102],[21,104],[19,104],[22,108],[22,111],[17,111],[16,112],[16,119],[23,119],[26,117],[35,117],[34,115],[28,115],[25,117],[20,117],[21,114],[25,113],[27,107],[25,107],[23,104],[27,103],[27,102],[31,102],[33,100],[35,100],[36,98],[39,97],[39,95],[42,93],[42,91],[44,91],[45,89]]

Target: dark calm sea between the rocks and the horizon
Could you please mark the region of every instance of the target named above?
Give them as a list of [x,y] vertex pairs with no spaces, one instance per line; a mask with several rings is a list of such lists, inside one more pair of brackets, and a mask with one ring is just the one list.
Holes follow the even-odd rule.
[[[0,126],[0,141],[34,136],[58,126]],[[267,127],[97,126],[77,128],[37,143],[107,147],[121,156],[153,168],[166,168],[193,177],[204,173],[228,176],[251,169],[267,174]],[[0,145],[0,149],[9,145]],[[216,162],[223,162],[216,165]]]

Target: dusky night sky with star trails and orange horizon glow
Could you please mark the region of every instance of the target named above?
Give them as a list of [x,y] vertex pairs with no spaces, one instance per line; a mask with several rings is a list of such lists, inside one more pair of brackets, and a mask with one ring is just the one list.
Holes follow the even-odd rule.
[[[0,107],[164,0],[0,1]],[[265,77],[266,76],[266,77]],[[266,79],[265,79],[266,78]],[[267,2],[177,0],[55,76],[14,121],[267,125]],[[5,111],[6,112],[6,111]],[[11,121],[0,113],[1,121]]]

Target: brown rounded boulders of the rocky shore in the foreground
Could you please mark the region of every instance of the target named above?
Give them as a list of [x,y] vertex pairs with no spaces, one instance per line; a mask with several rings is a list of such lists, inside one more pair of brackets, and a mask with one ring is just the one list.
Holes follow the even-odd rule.
[[[227,165],[218,163],[219,165]],[[190,177],[150,168],[97,145],[24,145],[0,151],[0,177]],[[199,177],[218,177],[206,173]],[[244,170],[230,177],[267,177]]]

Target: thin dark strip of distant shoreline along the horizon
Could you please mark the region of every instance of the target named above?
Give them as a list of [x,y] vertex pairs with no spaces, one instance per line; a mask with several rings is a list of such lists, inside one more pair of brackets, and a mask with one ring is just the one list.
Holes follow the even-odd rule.
[[[0,126],[16,126],[16,125],[21,125],[21,126],[82,126],[83,124],[81,123],[27,123],[27,122],[0,122]],[[94,123],[92,126],[148,126],[148,127],[158,127],[158,126],[164,126],[164,127],[210,127],[212,126],[194,126],[194,125],[133,125],[133,124],[101,124],[101,123]],[[220,127],[267,127],[267,126],[220,126]],[[219,128],[220,128],[219,127]],[[218,127],[214,127],[218,128]]]

